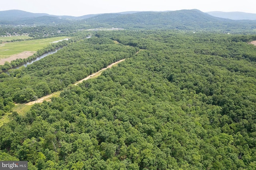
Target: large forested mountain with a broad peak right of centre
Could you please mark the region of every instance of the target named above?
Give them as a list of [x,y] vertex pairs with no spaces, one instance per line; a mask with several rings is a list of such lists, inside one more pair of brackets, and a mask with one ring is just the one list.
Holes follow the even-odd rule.
[[218,18],[200,10],[101,14],[82,21],[97,26],[122,26],[123,28],[161,28],[195,31],[218,30],[223,32],[243,32],[256,29],[256,20]]

